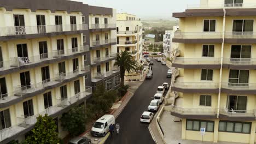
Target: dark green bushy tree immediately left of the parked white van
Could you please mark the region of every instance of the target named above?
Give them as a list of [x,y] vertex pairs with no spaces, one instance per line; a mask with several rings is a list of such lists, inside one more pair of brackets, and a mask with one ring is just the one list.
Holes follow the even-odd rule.
[[67,130],[72,136],[78,136],[85,130],[86,116],[84,106],[72,107],[61,117],[61,127]]

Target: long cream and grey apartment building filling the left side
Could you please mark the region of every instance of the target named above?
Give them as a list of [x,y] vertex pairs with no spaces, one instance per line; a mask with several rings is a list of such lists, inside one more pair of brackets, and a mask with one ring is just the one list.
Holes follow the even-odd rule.
[[65,137],[60,117],[91,97],[95,67],[114,71],[115,32],[108,21],[114,24],[115,10],[65,0],[9,0],[0,2],[0,19],[0,143],[21,142],[45,113]]

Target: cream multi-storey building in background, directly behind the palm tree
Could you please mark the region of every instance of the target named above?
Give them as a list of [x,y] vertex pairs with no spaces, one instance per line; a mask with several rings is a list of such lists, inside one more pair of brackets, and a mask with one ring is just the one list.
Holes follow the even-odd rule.
[[129,51],[135,61],[140,63],[143,55],[142,22],[136,15],[117,14],[117,52]]

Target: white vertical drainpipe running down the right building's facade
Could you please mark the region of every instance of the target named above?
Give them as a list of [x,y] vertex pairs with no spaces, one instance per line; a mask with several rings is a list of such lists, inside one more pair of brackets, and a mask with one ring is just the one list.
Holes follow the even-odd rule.
[[218,95],[218,111],[217,118],[219,118],[219,105],[220,105],[220,89],[222,88],[222,69],[223,69],[223,51],[224,51],[224,38],[225,38],[225,23],[226,23],[226,10],[223,8],[223,26],[222,26],[222,52],[220,54],[220,71],[219,71],[219,95]]

